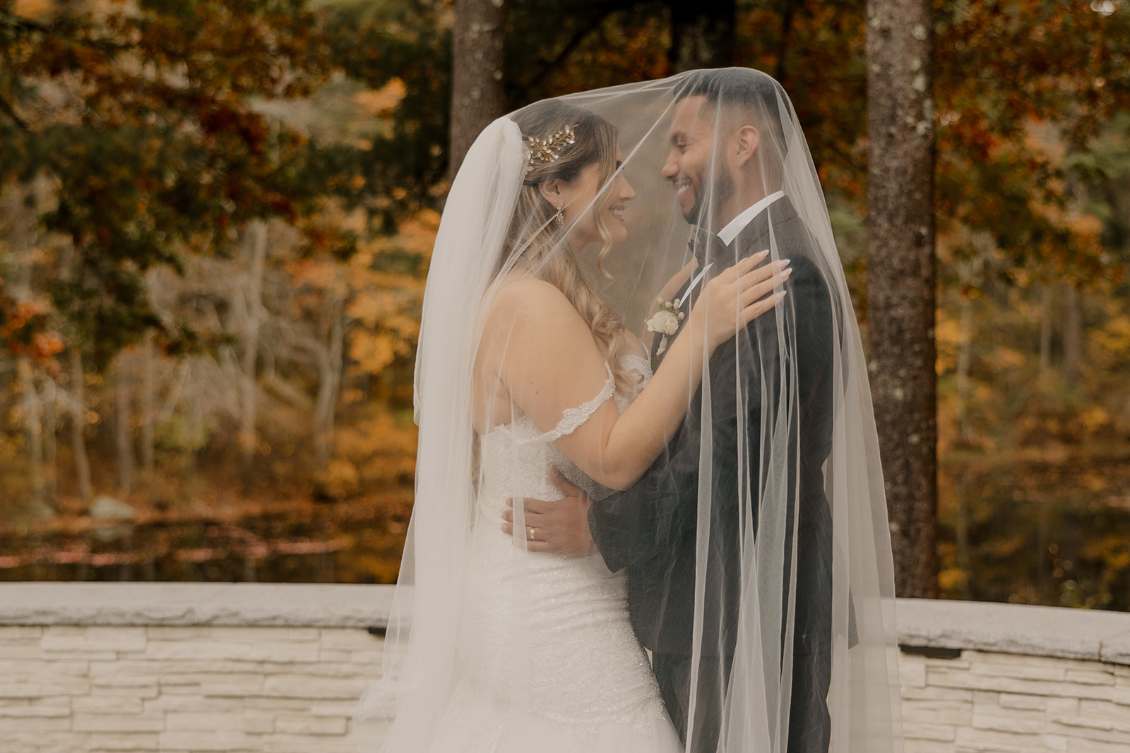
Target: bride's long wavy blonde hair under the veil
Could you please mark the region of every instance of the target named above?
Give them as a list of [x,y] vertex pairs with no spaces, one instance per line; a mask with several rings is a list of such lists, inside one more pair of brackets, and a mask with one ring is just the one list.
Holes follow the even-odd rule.
[[[590,165],[599,166],[601,190],[607,189],[616,173],[617,132],[611,123],[581,107],[566,105],[559,99],[547,99],[530,105],[511,116],[524,138],[546,141],[554,134],[571,128],[573,143],[556,149],[557,158],[532,161],[525,174],[525,183],[519,194],[514,216],[506,234],[506,244],[498,260],[497,273],[506,270],[524,270],[546,280],[565,296],[573,308],[581,314],[601,352],[608,359],[621,392],[635,394],[640,378],[620,365],[627,350],[624,321],[592,290],[584,279],[577,257],[563,248],[564,233],[554,217],[557,208],[541,195],[540,185],[555,178],[565,183],[575,181],[581,170]],[[599,211],[601,202],[591,209],[597,230],[603,245],[597,255],[597,268],[605,271],[603,260],[612,247],[612,234]],[[514,252],[518,257],[511,261]]]

